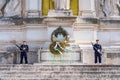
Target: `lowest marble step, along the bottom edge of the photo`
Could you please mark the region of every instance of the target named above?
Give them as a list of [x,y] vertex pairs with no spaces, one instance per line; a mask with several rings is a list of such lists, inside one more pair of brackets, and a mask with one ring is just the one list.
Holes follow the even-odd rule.
[[28,76],[28,77],[1,77],[1,80],[120,80],[118,76],[71,76],[71,75],[63,75],[63,76]]

